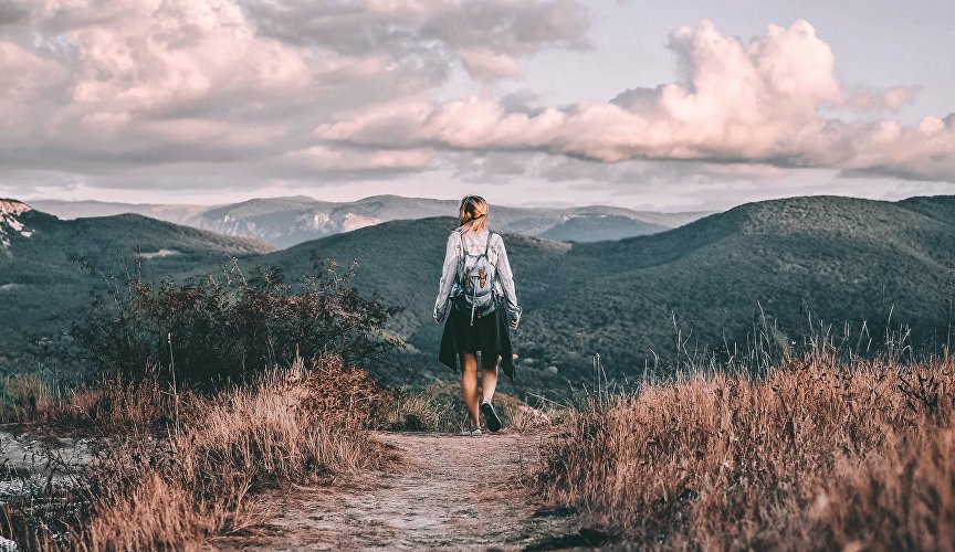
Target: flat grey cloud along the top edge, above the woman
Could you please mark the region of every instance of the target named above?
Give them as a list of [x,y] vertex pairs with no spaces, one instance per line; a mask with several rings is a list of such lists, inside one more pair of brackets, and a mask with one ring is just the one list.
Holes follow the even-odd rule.
[[555,44],[587,45],[587,10],[568,0],[430,0],[381,6],[286,0],[243,1],[259,32],[346,55],[426,55],[442,47],[529,54]]

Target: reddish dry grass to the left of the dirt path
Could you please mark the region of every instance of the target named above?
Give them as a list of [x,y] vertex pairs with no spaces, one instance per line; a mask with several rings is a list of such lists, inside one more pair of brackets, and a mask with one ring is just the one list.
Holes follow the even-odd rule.
[[[59,412],[84,405],[128,431],[101,439],[61,509],[41,517],[31,505],[4,506],[4,535],[41,550],[195,549],[255,527],[259,489],[385,458],[364,431],[384,395],[335,358],[311,369],[300,361],[211,397],[119,385],[96,396],[72,395]],[[140,421],[146,429],[137,428]],[[57,532],[69,538],[57,540]]]

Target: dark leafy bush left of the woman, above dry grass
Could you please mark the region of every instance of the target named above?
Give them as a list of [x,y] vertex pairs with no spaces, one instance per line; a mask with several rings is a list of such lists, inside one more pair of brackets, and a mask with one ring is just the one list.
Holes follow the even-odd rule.
[[183,283],[146,282],[139,266],[117,280],[93,263],[74,262],[108,285],[70,335],[99,370],[127,380],[151,370],[164,383],[221,384],[300,355],[338,354],[351,364],[400,346],[382,328],[401,309],[349,287],[354,263],[340,274],[337,263],[316,262],[290,285],[276,267],[246,278],[235,259],[219,275]]

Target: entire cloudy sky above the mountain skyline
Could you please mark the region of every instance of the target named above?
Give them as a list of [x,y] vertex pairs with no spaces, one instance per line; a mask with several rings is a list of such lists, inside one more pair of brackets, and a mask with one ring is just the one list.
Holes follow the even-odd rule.
[[0,197],[955,194],[949,0],[0,0]]

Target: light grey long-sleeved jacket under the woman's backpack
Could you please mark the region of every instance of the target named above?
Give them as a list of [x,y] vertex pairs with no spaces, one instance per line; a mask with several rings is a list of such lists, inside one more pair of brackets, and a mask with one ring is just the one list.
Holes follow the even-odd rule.
[[[482,230],[476,233],[469,232],[461,235],[456,230],[448,236],[448,247],[444,251],[444,266],[441,269],[441,280],[438,284],[438,298],[434,300],[434,320],[441,321],[448,314],[451,299],[461,291],[458,285],[458,261],[461,257],[461,241],[464,241],[464,248],[471,255],[480,255],[484,253],[484,246],[487,243],[489,231]],[[501,234],[494,234],[491,237],[491,244],[487,248],[487,258],[494,266],[496,274],[494,280],[495,293],[499,297],[504,298],[504,308],[507,309],[507,315],[513,319],[517,316],[521,307],[517,306],[517,294],[514,290],[514,275],[511,273],[511,264],[507,262],[507,251],[504,248],[504,240]]]

